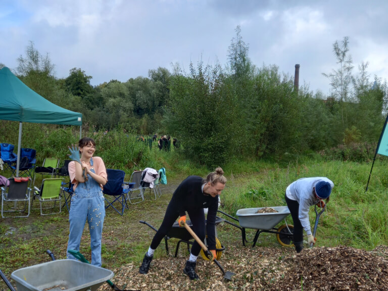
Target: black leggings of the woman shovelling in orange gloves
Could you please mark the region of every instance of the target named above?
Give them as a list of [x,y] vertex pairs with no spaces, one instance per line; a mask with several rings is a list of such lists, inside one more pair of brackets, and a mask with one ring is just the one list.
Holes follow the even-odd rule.
[[[187,210],[187,214],[190,217],[192,223],[192,230],[198,235],[198,237],[202,241],[204,241],[206,228],[204,209],[200,208],[197,210]],[[171,200],[167,206],[166,214],[164,215],[162,225],[159,227],[154,238],[152,239],[151,249],[155,250],[159,246],[160,242],[167,235],[167,233],[172,228],[172,225],[178,219],[178,217],[178,207],[176,206],[175,202]],[[195,241],[191,247],[191,254],[193,256],[198,256],[200,252],[201,246],[197,243],[197,241]]]

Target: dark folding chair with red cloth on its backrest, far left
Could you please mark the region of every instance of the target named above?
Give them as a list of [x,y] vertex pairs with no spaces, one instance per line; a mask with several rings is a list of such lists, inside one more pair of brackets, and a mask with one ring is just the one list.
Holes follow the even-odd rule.
[[[8,179],[9,184],[2,186],[2,217],[28,217],[30,215],[30,192],[31,179],[26,177],[12,177]],[[30,185],[28,186],[28,182]],[[21,202],[21,203],[20,203]],[[24,202],[24,203],[23,203]],[[24,204],[23,209],[20,204]],[[11,206],[12,205],[12,206]],[[25,212],[24,216],[4,216],[5,212]]]

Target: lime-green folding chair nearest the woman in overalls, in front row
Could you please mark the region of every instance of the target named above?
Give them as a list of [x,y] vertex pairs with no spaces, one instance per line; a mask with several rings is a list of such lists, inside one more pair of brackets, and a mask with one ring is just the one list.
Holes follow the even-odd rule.
[[[49,179],[43,179],[42,184],[40,185],[40,189],[37,187],[34,187],[34,198],[37,198],[40,204],[40,215],[49,215],[49,214],[58,214],[61,213],[62,207],[61,207],[61,199],[62,199],[62,183],[64,178],[49,178]],[[32,203],[31,202],[31,208]],[[59,212],[50,212],[50,213],[43,213],[43,209],[55,209],[57,201],[59,202]],[[54,202],[54,203],[53,203]],[[51,204],[52,206],[48,207],[42,207],[42,204],[46,203]]]

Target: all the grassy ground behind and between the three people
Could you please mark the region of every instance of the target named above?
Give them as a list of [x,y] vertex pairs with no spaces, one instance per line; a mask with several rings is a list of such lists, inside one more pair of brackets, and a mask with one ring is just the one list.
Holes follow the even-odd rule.
[[[388,168],[386,163],[376,161],[368,192],[365,192],[371,164],[350,162],[299,161],[278,165],[265,162],[234,163],[224,167],[227,186],[221,194],[221,210],[235,216],[238,209],[250,207],[273,207],[285,205],[286,186],[301,177],[326,176],[334,182],[334,189],[327,212],[320,218],[317,246],[349,246],[371,250],[388,241],[387,190]],[[139,220],[146,220],[159,227],[172,193],[182,179],[189,174],[206,175],[204,169],[189,167],[175,170],[168,176],[168,184],[162,185],[162,197],[152,200],[153,192],[146,190],[146,201],[130,205],[123,216],[112,209],[107,210],[103,231],[103,267],[119,268],[124,264],[140,265],[154,230]],[[38,204],[34,202],[34,206]],[[310,220],[313,224],[313,209]],[[290,216],[287,222],[292,224]],[[217,227],[221,244],[227,249],[241,248],[240,231],[227,224]],[[28,218],[0,219],[0,268],[10,278],[21,267],[47,262],[47,249],[57,259],[65,259],[69,233],[68,211],[61,214],[40,216],[32,210]],[[252,240],[254,230],[248,230]],[[176,239],[169,240],[170,252],[174,253]],[[90,260],[90,239],[87,227],[81,241],[80,252]],[[261,234],[258,246],[281,247],[273,234]],[[186,256],[184,247],[179,256]],[[166,257],[164,243],[158,248],[156,258]],[[0,282],[0,289],[7,289]]]

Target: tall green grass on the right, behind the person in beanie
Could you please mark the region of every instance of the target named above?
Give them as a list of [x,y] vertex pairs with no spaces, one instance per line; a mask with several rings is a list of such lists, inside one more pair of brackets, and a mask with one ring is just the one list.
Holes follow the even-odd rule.
[[[229,165],[228,167],[231,167]],[[321,216],[317,230],[320,246],[352,246],[373,249],[388,241],[388,198],[386,161],[376,161],[368,191],[365,191],[371,164],[355,162],[307,160],[274,167],[257,163],[259,172],[233,175],[222,193],[223,209],[231,214],[238,209],[286,205],[285,188],[302,177],[325,176],[334,189]],[[248,167],[250,168],[250,167]],[[310,210],[313,226],[315,213]],[[292,223],[290,216],[287,223]]]

